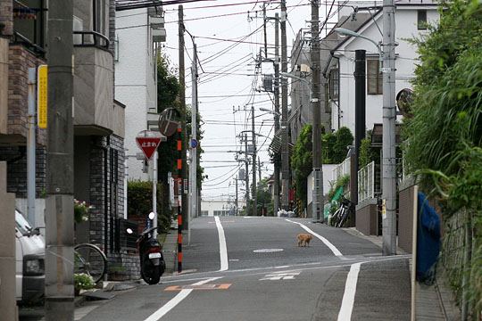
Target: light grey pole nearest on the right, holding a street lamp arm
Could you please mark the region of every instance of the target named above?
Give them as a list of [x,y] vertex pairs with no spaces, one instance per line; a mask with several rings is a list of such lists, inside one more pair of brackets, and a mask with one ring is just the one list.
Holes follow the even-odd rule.
[[396,254],[395,4],[383,1],[383,255]]

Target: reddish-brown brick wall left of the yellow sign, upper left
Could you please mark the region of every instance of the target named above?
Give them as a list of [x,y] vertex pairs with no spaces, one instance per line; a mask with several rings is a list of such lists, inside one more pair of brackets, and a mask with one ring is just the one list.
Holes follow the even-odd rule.
[[[8,55],[8,134],[27,137],[29,68],[45,61],[30,53],[23,45],[11,45]],[[46,130],[37,129],[37,144],[46,144]]]

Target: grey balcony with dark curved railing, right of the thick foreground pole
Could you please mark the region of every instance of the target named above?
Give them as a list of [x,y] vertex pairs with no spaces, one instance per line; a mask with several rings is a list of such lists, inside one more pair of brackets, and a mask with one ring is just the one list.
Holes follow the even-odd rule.
[[124,108],[113,103],[113,56],[109,39],[74,31],[74,125],[79,136],[124,136]]

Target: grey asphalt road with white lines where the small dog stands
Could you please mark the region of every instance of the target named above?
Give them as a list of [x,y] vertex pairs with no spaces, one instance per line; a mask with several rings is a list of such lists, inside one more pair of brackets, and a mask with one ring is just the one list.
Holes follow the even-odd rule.
[[[222,253],[215,219],[196,218],[183,263],[193,273],[89,303],[81,320],[410,319],[405,257],[382,257],[376,245],[342,229],[289,220],[222,217]],[[314,237],[298,247],[295,237],[306,230],[297,223],[325,242]],[[223,255],[229,267],[220,271]]]

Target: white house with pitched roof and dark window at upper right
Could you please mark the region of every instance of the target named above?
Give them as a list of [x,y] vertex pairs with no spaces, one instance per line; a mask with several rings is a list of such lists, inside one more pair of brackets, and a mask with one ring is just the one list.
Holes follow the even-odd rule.
[[[411,88],[418,53],[416,45],[407,41],[427,32],[427,23],[438,21],[437,4],[428,0],[417,3],[397,2],[395,9],[395,88],[399,93],[403,88]],[[373,39],[376,43],[382,41],[383,14],[380,9],[373,14],[373,19],[366,21],[355,30],[364,37]],[[373,124],[382,123],[382,74],[378,67],[378,50],[370,41],[360,37],[345,37],[334,50],[328,69],[329,102],[331,110],[331,127],[350,128],[354,133],[354,51],[366,50],[366,128],[373,128]]]

